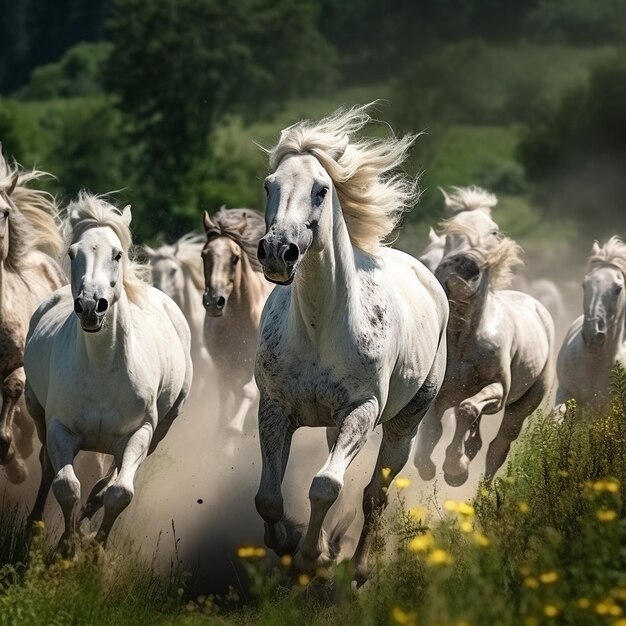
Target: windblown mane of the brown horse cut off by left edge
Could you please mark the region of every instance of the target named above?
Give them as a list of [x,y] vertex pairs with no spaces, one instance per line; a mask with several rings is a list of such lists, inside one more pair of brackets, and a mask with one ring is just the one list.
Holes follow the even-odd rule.
[[23,260],[33,248],[58,259],[63,250],[59,232],[58,208],[52,194],[31,189],[27,184],[44,176],[40,170],[23,170],[17,163],[9,164],[0,153],[0,192],[13,183],[17,184],[10,196],[6,196],[12,211],[9,216],[9,250],[5,267],[12,272],[23,268]]

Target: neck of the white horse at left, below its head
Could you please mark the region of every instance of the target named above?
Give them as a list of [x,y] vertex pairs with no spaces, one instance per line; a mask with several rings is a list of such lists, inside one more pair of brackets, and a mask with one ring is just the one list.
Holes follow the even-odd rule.
[[129,349],[130,304],[122,290],[120,299],[112,305],[107,320],[97,333],[86,333],[76,318],[78,344],[82,346],[89,364],[108,368]]

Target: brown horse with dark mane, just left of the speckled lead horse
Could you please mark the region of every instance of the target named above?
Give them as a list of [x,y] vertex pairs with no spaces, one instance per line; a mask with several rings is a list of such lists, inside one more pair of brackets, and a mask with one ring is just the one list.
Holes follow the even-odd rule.
[[220,426],[237,437],[258,398],[254,357],[261,311],[272,289],[256,258],[265,222],[250,209],[221,209],[213,218],[205,212],[204,230],[204,334],[216,369]]

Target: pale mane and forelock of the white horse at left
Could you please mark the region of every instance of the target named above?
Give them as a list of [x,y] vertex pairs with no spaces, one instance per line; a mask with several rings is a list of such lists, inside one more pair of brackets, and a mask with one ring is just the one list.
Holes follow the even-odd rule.
[[91,228],[110,228],[122,244],[124,290],[129,301],[141,304],[147,294],[149,268],[130,258],[132,235],[122,211],[109,204],[102,196],[82,190],[76,200],[67,206],[64,230],[66,247],[69,248]]

